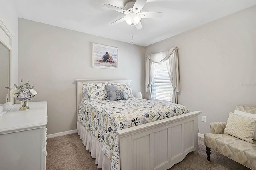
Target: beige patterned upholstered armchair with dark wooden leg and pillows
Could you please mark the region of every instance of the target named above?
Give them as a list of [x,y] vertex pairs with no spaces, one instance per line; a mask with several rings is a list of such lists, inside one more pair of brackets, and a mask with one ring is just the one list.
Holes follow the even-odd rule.
[[[213,149],[248,168],[256,170],[255,113],[256,108],[254,107],[238,105],[235,112],[229,114],[227,122],[210,123],[211,133],[204,134],[207,160],[210,161],[211,149]],[[237,120],[239,123],[236,122]],[[241,123],[242,121],[245,125]]]

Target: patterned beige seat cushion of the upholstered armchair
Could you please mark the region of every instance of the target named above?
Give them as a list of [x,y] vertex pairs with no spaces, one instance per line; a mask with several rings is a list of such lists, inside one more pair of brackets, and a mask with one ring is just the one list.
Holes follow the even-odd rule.
[[246,142],[228,134],[204,134],[205,146],[256,170],[256,141]]

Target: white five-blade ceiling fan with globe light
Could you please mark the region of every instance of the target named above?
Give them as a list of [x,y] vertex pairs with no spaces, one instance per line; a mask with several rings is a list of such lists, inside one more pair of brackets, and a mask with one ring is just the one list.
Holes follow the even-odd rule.
[[104,6],[112,10],[126,14],[124,18],[116,20],[115,22],[112,22],[110,25],[115,25],[120,22],[126,21],[127,24],[135,26],[137,30],[139,30],[142,28],[140,22],[141,18],[161,18],[164,16],[164,13],[162,12],[141,12],[146,2],[147,0],[130,0],[125,3],[124,9],[110,4],[104,4]]

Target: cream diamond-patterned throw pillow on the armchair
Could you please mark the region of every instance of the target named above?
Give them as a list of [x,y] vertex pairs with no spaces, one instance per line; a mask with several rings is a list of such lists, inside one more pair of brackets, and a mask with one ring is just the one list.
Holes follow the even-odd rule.
[[224,134],[230,134],[246,142],[253,143],[255,123],[256,118],[248,118],[230,112]]

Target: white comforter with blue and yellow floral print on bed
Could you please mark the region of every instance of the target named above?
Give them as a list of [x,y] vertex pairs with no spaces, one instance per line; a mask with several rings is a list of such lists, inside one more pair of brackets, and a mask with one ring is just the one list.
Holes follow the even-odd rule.
[[120,169],[116,130],[188,113],[183,105],[140,98],[127,100],[82,100],[78,120],[103,145],[111,169]]

